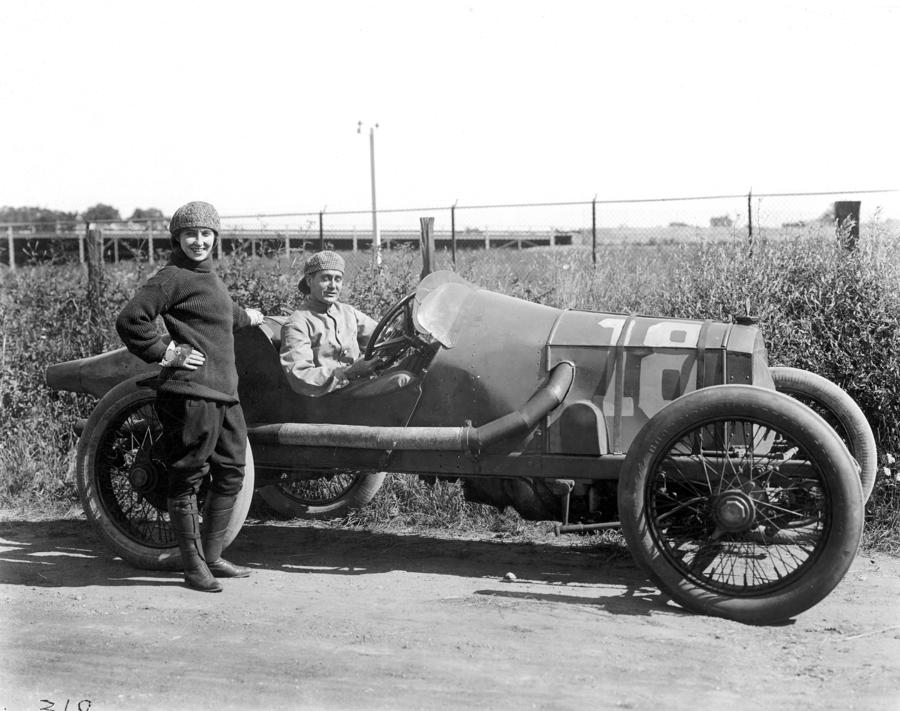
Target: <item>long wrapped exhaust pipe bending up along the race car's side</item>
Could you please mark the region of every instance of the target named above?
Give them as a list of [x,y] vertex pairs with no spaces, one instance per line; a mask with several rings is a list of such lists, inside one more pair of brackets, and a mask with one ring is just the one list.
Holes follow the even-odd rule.
[[260,444],[477,454],[496,442],[524,435],[533,429],[565,399],[574,378],[572,363],[557,364],[547,383],[538,388],[522,409],[480,427],[368,427],[286,422],[250,427],[248,433],[252,442]]

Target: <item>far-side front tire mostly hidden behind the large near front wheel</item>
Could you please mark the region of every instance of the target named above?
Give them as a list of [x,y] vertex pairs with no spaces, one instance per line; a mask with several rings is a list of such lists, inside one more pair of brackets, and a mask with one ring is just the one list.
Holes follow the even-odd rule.
[[801,402],[804,402],[802,398],[808,398],[840,423],[844,431],[838,430],[838,435],[859,464],[863,501],[868,501],[878,473],[878,449],[869,421],[859,405],[830,380],[808,370],[776,367],[769,368],[769,372],[778,392],[799,396]]

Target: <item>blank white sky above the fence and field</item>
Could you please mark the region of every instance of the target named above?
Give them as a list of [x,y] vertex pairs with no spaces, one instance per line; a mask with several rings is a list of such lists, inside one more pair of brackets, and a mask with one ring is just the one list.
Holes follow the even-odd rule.
[[898,36],[900,0],[4,0],[0,205],[364,213],[376,124],[387,210],[896,189]]

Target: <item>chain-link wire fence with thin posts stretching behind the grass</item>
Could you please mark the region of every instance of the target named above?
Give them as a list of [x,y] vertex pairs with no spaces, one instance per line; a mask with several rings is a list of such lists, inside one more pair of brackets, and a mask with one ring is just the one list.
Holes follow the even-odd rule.
[[[504,205],[445,205],[379,210],[297,212],[222,217],[219,255],[288,254],[329,247],[346,251],[417,246],[420,217],[434,218],[438,250],[526,249],[535,246],[597,248],[611,242],[668,244],[747,238],[790,239],[811,227],[833,230],[886,222],[900,236],[900,191],[761,193],[680,198],[592,200]],[[85,238],[102,234],[103,259],[164,258],[170,249],[167,223],[159,218],[128,222],[0,223],[6,239],[0,263],[85,261]],[[2,232],[0,232],[2,236]],[[2,237],[0,237],[2,238]],[[12,257],[12,259],[11,259]]]

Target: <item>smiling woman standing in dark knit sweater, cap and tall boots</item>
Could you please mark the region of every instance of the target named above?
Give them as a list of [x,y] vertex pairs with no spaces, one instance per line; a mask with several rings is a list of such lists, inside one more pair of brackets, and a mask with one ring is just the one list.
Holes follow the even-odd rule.
[[[219,215],[207,202],[189,202],[169,223],[172,256],[119,314],[116,330],[129,351],[162,365],[156,408],[168,473],[167,506],[187,585],[219,592],[220,578],[246,577],[249,568],[221,557],[234,501],[244,479],[247,427],[237,396],[234,331],[262,323],[256,309],[235,304],[213,271]],[[162,317],[168,346],[156,329]],[[209,476],[203,531],[197,492]]]

